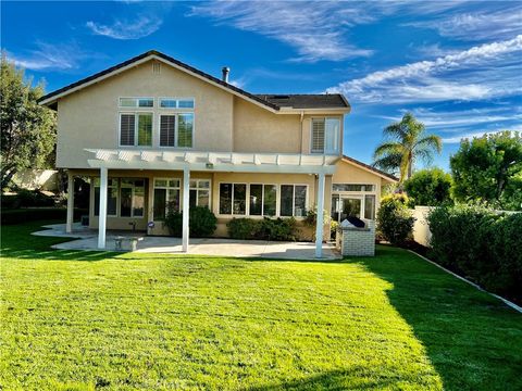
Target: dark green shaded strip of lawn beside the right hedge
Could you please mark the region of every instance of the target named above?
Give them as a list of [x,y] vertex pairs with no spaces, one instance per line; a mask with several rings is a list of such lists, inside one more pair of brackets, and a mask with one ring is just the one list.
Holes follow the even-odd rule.
[[522,390],[522,316],[405,250],[360,258],[390,282],[390,304],[424,345],[448,390]]

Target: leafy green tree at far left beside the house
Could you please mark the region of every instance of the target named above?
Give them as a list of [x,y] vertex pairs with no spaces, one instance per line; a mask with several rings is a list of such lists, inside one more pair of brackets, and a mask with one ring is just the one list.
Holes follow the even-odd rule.
[[53,152],[55,115],[38,105],[44,86],[32,86],[24,71],[2,53],[0,60],[1,188],[24,168],[45,168]]

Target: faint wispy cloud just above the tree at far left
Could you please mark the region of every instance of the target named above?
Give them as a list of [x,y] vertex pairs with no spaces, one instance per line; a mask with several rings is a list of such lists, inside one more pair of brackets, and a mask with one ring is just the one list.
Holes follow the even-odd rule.
[[79,67],[82,60],[97,56],[98,54],[85,52],[75,42],[48,43],[36,42],[34,50],[25,54],[8,53],[14,63],[23,68],[33,71],[44,70],[73,70]]

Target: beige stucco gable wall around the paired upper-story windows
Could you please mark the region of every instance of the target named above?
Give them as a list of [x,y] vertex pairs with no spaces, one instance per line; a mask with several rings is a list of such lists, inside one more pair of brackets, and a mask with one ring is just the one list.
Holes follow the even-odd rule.
[[[119,148],[119,113],[128,111],[119,109],[120,97],[195,98],[192,150],[232,151],[233,94],[165,64],[154,74],[149,61],[59,100],[57,167],[88,167],[85,148]],[[163,112],[154,105],[139,109],[154,113],[151,148],[159,146]]]

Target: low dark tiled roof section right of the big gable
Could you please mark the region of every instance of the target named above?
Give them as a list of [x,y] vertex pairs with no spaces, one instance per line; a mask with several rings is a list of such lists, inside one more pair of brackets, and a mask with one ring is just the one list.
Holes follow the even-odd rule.
[[285,93],[259,94],[256,97],[279,108],[291,109],[350,109],[350,104],[340,93]]

